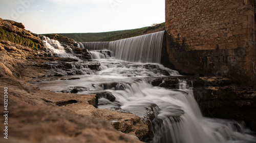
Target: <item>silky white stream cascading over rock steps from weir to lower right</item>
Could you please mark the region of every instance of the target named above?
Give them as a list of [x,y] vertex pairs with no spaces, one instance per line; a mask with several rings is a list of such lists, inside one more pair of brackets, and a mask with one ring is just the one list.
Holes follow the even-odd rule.
[[[119,57],[117,54],[122,54],[127,61],[134,58],[136,60],[132,61],[143,62],[139,59],[139,55],[134,55],[134,50],[141,51],[141,55],[143,55],[147,51],[154,52],[154,49],[139,49],[137,51],[133,46],[125,44],[136,45],[135,43],[139,43],[138,39],[143,39],[161,45],[161,40],[152,41],[153,37],[148,35],[143,38],[115,41],[112,43],[114,48],[111,51],[115,57]],[[141,41],[141,43],[143,42]],[[109,47],[112,44],[110,43]],[[127,53],[132,55],[127,55]],[[158,63],[157,56],[154,58],[152,56],[149,53],[146,59],[154,59],[148,61]],[[122,59],[121,56],[120,59]],[[113,58],[99,58],[95,61],[101,63],[100,71],[94,71],[91,75],[76,75],[80,78],[78,80],[54,80],[37,84],[40,89],[53,91],[75,87],[78,94],[108,92],[115,96],[115,101],[111,102],[100,98],[99,108],[120,107],[141,118],[146,112],[145,108],[153,107],[155,111],[155,119],[152,121],[154,136],[146,139],[150,143],[252,143],[256,140],[256,137],[249,134],[243,123],[204,118],[194,98],[193,89],[186,81],[180,80],[179,88],[176,90],[153,87],[150,84],[151,78],[167,76],[178,78],[180,75],[177,71],[164,68],[160,64],[133,63]]]

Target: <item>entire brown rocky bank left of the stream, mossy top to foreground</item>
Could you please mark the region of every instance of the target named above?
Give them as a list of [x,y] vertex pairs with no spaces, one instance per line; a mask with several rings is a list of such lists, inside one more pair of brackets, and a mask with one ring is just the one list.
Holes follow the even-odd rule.
[[[141,142],[148,133],[136,115],[95,108],[96,95],[57,94],[28,83],[47,74],[42,63],[61,58],[38,50],[42,41],[22,23],[0,19],[0,30],[0,142]],[[59,106],[69,103],[75,104]]]

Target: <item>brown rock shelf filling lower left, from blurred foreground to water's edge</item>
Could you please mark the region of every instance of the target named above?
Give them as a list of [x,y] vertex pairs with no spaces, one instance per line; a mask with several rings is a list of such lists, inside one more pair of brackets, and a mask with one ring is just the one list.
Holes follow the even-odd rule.
[[[9,134],[0,142],[141,142],[148,133],[136,115],[94,107],[98,98],[93,94],[52,93],[14,78],[1,78],[0,89],[4,87]],[[2,117],[3,112],[1,108]]]

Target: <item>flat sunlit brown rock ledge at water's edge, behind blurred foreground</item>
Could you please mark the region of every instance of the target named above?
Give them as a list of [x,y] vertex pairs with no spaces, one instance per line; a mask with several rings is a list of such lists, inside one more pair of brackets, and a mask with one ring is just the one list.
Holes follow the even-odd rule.
[[96,108],[98,97],[95,94],[57,94],[56,96],[44,94],[41,97],[63,109],[72,110],[78,115],[87,115],[108,121],[116,130],[135,138],[142,139],[148,134],[148,126],[142,122],[140,117],[132,113]]

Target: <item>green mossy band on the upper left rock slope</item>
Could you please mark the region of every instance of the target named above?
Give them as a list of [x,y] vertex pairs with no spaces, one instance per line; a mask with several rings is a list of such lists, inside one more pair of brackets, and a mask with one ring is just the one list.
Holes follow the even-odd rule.
[[22,38],[16,34],[14,35],[13,33],[9,33],[3,28],[0,28],[0,40],[10,41],[22,46],[28,46],[34,50],[38,50],[38,48],[40,49],[41,47],[40,43],[35,43],[28,38]]

